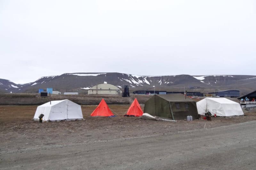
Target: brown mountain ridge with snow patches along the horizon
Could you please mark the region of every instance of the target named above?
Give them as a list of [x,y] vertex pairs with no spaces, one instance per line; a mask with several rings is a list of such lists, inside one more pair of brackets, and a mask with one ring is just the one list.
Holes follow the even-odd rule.
[[[1,80],[1,79],[0,79]],[[2,79],[3,80],[3,79]],[[242,81],[243,80],[243,81]],[[8,81],[8,80],[7,80]],[[6,82],[6,81],[5,81]],[[0,81],[0,90],[6,92],[37,92],[39,88],[52,87],[58,91],[81,91],[101,84],[108,83],[123,88],[124,85],[129,85],[132,89],[152,89],[153,86],[158,89],[172,89],[180,87],[197,88],[214,88],[223,89],[223,87],[236,89],[239,85],[244,85],[254,88],[256,85],[256,76],[250,75],[165,75],[165,76],[141,76],[124,73],[64,73],[56,76],[45,76],[37,79],[35,82],[30,82],[24,85],[10,83],[3,86]],[[13,85],[13,86],[12,86]],[[5,87],[5,88],[2,88]],[[8,87],[8,88],[6,88]],[[256,87],[255,87],[256,88]],[[7,90],[5,90],[7,89]],[[19,90],[20,89],[20,90]]]

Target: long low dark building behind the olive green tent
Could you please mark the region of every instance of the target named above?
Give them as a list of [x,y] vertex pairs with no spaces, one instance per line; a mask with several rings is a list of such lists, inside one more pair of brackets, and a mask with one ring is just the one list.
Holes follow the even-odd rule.
[[[133,94],[184,94],[184,92],[137,90],[137,91],[134,91]],[[187,96],[204,96],[204,94],[201,92],[187,92]]]

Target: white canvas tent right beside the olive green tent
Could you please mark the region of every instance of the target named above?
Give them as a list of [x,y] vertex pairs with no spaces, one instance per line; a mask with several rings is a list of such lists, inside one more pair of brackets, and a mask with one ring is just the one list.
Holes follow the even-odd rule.
[[196,102],[198,114],[204,115],[205,110],[214,114],[216,110],[217,116],[239,116],[244,115],[239,103],[226,98],[211,98],[207,97]]

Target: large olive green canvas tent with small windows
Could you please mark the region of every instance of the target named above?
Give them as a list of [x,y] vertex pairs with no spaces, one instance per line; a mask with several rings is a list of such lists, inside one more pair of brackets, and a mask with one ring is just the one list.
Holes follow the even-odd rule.
[[198,119],[196,102],[182,94],[155,94],[145,103],[144,113],[173,120],[183,120],[188,115]]

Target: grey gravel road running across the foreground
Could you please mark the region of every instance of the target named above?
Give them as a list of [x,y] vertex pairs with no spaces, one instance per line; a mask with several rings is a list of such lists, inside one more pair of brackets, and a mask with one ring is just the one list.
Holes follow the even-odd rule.
[[256,121],[0,151],[0,169],[255,169]]

